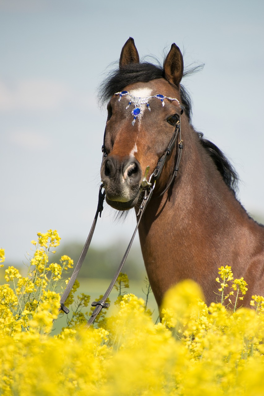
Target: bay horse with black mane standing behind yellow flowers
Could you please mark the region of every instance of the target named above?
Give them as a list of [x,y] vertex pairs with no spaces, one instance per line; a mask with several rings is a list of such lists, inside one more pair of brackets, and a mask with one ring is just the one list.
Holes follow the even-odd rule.
[[184,148],[177,178],[178,137],[138,228],[157,305],[186,278],[202,287],[207,303],[216,301],[218,267],[231,265],[234,278],[243,276],[248,284],[243,305],[249,306],[252,294],[264,293],[264,227],[236,199],[238,177],[226,156],[193,128],[183,75],[176,44],[163,67],[140,63],[133,38],[124,44],[119,69],[99,93],[109,101],[101,165],[106,202],[138,211],[145,169],[153,173],[180,122]]

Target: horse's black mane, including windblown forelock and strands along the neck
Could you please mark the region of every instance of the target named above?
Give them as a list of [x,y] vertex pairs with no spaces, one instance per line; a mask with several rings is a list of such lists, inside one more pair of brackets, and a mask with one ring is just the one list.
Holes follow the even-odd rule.
[[[203,65],[193,67],[192,69],[184,72],[184,76],[193,74],[202,67]],[[127,85],[134,84],[136,82],[149,82],[151,80],[155,80],[156,78],[165,78],[164,69],[161,65],[153,65],[152,63],[148,62],[132,63],[130,65],[126,65],[111,72],[107,79],[102,82],[99,87],[98,99],[101,101],[101,103],[106,103],[109,101],[111,96],[113,96],[116,92],[122,91]],[[180,95],[181,105],[184,106],[184,112],[188,116],[189,122],[191,123],[191,98],[187,90],[182,85],[180,86]],[[224,153],[216,145],[214,145],[214,143],[205,139],[203,137],[203,133],[197,133],[199,135],[201,145],[214,161],[214,164],[222,175],[224,182],[231,189],[233,194],[235,194],[239,181],[239,177],[235,169]]]

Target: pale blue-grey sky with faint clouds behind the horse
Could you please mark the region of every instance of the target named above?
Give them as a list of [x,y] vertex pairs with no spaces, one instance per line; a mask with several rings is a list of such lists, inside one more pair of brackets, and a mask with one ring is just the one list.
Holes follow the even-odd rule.
[[[238,198],[264,219],[264,2],[0,0],[0,248],[22,262],[37,232],[85,242],[94,219],[106,109],[97,92],[133,37],[161,61],[175,42],[195,128],[231,160]],[[113,66],[112,66],[113,67]],[[130,240],[105,204],[92,244]],[[136,242],[138,243],[138,242]]]

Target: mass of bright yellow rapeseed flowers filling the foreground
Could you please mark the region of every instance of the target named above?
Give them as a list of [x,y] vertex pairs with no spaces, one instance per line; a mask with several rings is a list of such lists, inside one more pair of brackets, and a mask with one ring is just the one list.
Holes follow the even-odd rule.
[[[165,295],[158,324],[146,301],[124,291],[129,283],[121,274],[116,312],[107,317],[102,310],[95,326],[85,329],[90,296],[75,297],[76,281],[65,302],[72,316],[52,335],[65,286],[61,277],[73,266],[68,256],[48,264],[59,239],[56,231],[39,233],[27,275],[8,267],[7,283],[0,285],[1,394],[263,394],[264,297],[253,295],[252,309],[237,308],[247,284],[233,279],[231,267],[220,267],[216,278],[222,303],[207,306],[199,286],[184,281]],[[232,310],[231,303],[224,306],[229,299],[236,299]]]

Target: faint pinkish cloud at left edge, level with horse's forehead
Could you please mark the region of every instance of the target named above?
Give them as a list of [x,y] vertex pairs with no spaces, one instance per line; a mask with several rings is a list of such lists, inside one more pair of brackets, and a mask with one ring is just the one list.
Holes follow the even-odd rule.
[[70,97],[63,83],[28,79],[12,86],[0,81],[0,111],[55,110]]

